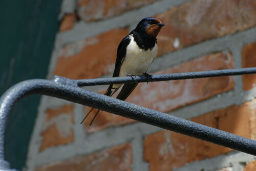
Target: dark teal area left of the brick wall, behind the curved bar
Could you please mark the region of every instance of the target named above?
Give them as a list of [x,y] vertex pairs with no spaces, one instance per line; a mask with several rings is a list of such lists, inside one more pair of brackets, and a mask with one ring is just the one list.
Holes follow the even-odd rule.
[[[0,1],[0,94],[28,79],[45,79],[59,28],[62,0]],[[8,116],[5,159],[11,168],[25,165],[40,96],[18,102]]]

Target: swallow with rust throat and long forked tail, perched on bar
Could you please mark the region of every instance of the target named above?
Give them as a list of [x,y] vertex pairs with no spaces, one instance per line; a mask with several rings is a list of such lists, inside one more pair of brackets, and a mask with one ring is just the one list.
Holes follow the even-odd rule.
[[[130,76],[133,78],[141,75],[151,77],[146,71],[157,56],[158,45],[156,37],[163,26],[165,24],[158,18],[143,18],[137,27],[121,40],[117,47],[117,58],[113,77]],[[116,99],[124,101],[137,85],[138,83],[124,84]],[[112,96],[121,86],[122,84],[111,84],[104,95]],[[83,118],[81,124],[93,109]],[[98,109],[90,126],[99,111]]]

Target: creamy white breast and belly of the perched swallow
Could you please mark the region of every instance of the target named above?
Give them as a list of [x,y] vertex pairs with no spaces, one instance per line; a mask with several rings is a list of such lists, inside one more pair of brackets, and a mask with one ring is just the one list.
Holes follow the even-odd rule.
[[143,75],[157,56],[157,44],[155,44],[152,50],[148,49],[144,51],[139,48],[134,41],[134,37],[130,37],[131,42],[127,46],[126,56],[122,62],[119,77],[125,77],[127,74],[136,76]]

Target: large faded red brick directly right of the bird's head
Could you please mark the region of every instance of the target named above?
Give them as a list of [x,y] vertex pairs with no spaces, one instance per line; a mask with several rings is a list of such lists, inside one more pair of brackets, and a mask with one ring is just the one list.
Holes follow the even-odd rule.
[[196,0],[170,8],[156,16],[166,24],[158,36],[159,55],[254,27],[255,9],[250,0]]

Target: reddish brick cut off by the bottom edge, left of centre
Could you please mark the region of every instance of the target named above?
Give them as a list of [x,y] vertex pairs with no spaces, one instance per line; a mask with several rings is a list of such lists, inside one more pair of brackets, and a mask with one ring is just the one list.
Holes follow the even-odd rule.
[[37,168],[36,171],[65,171],[65,170],[131,170],[132,147],[131,144],[115,146],[87,156],[74,157],[65,161]]

